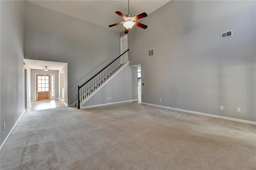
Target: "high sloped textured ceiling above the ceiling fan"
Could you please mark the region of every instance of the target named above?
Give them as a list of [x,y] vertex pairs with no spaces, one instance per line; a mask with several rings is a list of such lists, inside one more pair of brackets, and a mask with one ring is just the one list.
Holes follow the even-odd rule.
[[[169,1],[130,0],[130,14],[136,16],[146,12],[149,15]],[[122,25],[108,27],[123,21],[115,12],[128,14],[128,0],[29,0],[29,2],[116,32],[124,31],[124,27]]]

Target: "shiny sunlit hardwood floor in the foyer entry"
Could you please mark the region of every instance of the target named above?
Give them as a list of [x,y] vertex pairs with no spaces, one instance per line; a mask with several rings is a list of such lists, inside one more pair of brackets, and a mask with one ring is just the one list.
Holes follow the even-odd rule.
[[32,101],[30,106],[26,108],[26,112],[38,111],[38,110],[44,110],[44,109],[53,109],[58,107],[66,107],[64,105],[64,100],[60,100],[60,99],[38,100],[38,101]]

